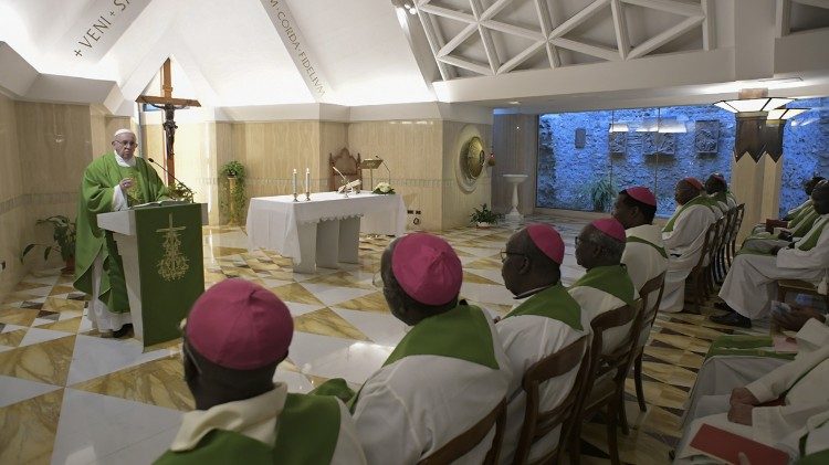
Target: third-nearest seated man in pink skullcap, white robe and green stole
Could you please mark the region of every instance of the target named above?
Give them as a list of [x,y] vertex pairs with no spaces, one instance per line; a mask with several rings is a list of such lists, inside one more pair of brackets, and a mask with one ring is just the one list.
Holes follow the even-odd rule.
[[[495,325],[515,377],[500,458],[501,463],[508,464],[513,463],[524,422],[526,395],[521,387],[524,373],[535,362],[578,340],[587,330],[581,326],[581,308],[562,285],[559,266],[564,261],[564,241],[558,231],[548,224],[531,224],[510,237],[501,260],[506,288],[515,298],[526,298]],[[539,387],[539,411],[553,410],[567,398],[579,366]],[[528,456],[521,462],[534,463],[553,451],[558,445],[559,433],[560,426],[534,442]]]

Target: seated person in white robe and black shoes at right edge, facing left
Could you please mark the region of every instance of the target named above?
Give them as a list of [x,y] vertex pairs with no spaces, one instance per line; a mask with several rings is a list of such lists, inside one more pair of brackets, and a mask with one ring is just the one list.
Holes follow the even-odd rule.
[[811,200],[819,216],[801,239],[768,253],[746,252],[735,257],[720,289],[728,313],[710,317],[712,321],[751,327],[753,319],[768,316],[778,279],[804,279],[815,285],[825,279],[829,267],[829,181],[815,187]]

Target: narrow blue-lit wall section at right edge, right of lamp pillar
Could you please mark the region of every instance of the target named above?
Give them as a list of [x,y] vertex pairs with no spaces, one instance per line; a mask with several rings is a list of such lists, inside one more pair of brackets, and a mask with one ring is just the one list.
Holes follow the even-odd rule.
[[789,106],[811,109],[789,119],[784,129],[781,215],[806,200],[804,180],[815,175],[829,178],[829,97],[797,101]]

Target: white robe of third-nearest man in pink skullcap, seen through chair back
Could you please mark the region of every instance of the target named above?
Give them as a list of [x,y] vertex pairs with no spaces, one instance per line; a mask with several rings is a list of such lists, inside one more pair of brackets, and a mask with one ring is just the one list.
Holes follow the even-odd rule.
[[[555,302],[550,305],[555,306]],[[500,463],[510,464],[514,458],[524,424],[526,395],[521,385],[524,373],[533,363],[569,346],[587,331],[574,329],[560,320],[538,315],[510,316],[499,321],[495,328],[510,359],[510,368],[517,381],[508,399],[506,429],[499,457]],[[538,387],[541,412],[553,410],[565,400],[574,387],[579,366]],[[528,462],[532,463],[555,448],[558,445],[559,434],[560,427],[556,427],[537,440],[529,451]]]

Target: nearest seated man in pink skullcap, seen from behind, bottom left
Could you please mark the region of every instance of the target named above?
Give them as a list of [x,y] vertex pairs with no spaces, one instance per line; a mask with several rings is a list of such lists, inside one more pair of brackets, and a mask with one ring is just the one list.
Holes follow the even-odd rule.
[[225,279],[204,292],[182,342],[197,410],[156,464],[365,464],[343,402],[273,382],[293,332],[285,304],[254,283]]

